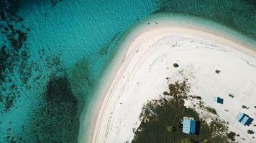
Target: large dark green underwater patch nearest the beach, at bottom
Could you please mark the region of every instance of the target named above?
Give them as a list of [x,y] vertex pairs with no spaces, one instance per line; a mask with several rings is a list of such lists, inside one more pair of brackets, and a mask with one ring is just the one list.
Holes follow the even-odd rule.
[[32,116],[35,142],[77,142],[78,100],[68,78],[53,76],[42,97],[40,109]]

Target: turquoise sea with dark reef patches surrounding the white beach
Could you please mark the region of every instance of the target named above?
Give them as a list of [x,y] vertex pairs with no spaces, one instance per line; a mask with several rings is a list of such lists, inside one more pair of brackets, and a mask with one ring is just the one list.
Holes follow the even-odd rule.
[[6,57],[0,59],[0,142],[78,142],[80,114],[88,109],[115,45],[147,16],[197,16],[256,39],[255,5],[231,0],[19,1],[17,15],[23,20],[1,21],[1,31],[12,24],[27,39],[14,36],[8,25],[10,33],[0,36],[0,54]]

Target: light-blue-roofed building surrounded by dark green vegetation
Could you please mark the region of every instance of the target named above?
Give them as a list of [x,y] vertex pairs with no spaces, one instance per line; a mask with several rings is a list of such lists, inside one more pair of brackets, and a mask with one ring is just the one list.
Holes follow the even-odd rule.
[[183,117],[182,132],[186,134],[196,134],[196,120],[193,118]]

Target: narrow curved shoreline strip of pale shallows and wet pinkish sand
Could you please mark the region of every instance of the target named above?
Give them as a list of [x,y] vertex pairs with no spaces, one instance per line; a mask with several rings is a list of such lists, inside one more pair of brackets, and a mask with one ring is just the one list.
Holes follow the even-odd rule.
[[[163,19],[161,17],[161,19]],[[98,139],[98,134],[97,134],[97,130],[99,129],[99,127],[101,126],[101,121],[102,118],[104,116],[104,112],[106,112],[106,106],[109,105],[109,100],[111,97],[108,97],[106,94],[107,91],[109,91],[109,89],[113,89],[114,88],[114,84],[116,84],[116,81],[118,81],[118,79],[120,78],[119,76],[122,75],[120,74],[122,72],[121,67],[124,65],[124,62],[127,61],[127,59],[129,59],[129,54],[131,54],[132,49],[129,49],[133,43],[133,41],[136,41],[134,39],[137,39],[137,37],[142,36],[143,34],[150,32],[150,31],[155,31],[155,30],[160,30],[160,29],[164,29],[164,30],[170,30],[170,31],[175,31],[177,32],[180,30],[187,30],[188,32],[191,32],[191,34],[195,34],[196,32],[201,33],[201,35],[204,36],[210,36],[211,39],[217,40],[217,41],[221,41],[221,43],[225,43],[228,45],[233,45],[234,47],[237,47],[237,49],[239,49],[239,51],[243,51],[247,54],[251,54],[252,56],[256,56],[256,51],[252,50],[250,48],[247,48],[246,46],[242,46],[241,44],[237,43],[236,41],[231,41],[229,38],[225,37],[225,36],[219,36],[219,34],[216,34],[218,32],[216,31],[211,31],[209,29],[197,29],[198,26],[195,26],[194,29],[191,28],[193,26],[177,26],[175,24],[170,25],[170,23],[166,22],[165,23],[165,19],[163,19],[163,23],[162,21],[157,21],[157,23],[155,23],[155,19],[150,19],[150,25],[145,25],[147,24],[148,21],[144,21],[142,22],[142,24],[139,24],[139,26],[135,26],[136,28],[131,29],[131,31],[127,32],[127,37],[124,36],[125,38],[123,39],[124,41],[122,41],[118,46],[122,47],[119,48],[118,51],[116,51],[116,54],[114,55],[114,59],[112,60],[111,64],[109,65],[109,68],[106,69],[106,74],[104,74],[104,76],[101,79],[101,82],[99,84],[99,92],[96,93],[97,97],[95,98],[95,101],[93,101],[91,104],[93,107],[93,110],[91,110],[91,114],[93,114],[93,116],[91,117],[91,123],[93,123],[93,127],[92,125],[90,126],[91,131],[88,131],[87,137],[88,141],[92,141],[92,142],[96,142]],[[172,28],[168,28],[168,27],[172,27]],[[206,31],[205,31],[206,30]],[[209,32],[210,31],[210,32]],[[200,34],[199,34],[200,35]],[[221,35],[221,34],[220,34]],[[104,105],[104,106],[103,106]],[[115,105],[114,105],[115,106]],[[96,121],[95,121],[96,119]],[[93,130],[93,131],[92,131]],[[91,132],[91,133],[90,133]],[[91,135],[93,136],[91,139]]]

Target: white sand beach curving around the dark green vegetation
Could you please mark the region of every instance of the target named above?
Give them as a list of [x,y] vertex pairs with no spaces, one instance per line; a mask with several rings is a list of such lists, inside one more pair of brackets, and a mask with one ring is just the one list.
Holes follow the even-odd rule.
[[[256,52],[193,26],[157,21],[149,27],[121,45],[115,59],[119,61],[112,64],[111,75],[98,93],[90,142],[131,142],[133,129],[140,125],[143,104],[168,91],[166,77],[174,81],[188,78],[190,94],[201,96],[214,107],[221,119],[229,122],[229,129],[246,139],[244,142],[256,142],[253,134],[247,134],[248,129],[256,132],[256,122],[248,127],[235,119],[239,112],[256,119]],[[174,63],[179,67],[173,67]],[[216,74],[216,69],[221,72]],[[224,104],[216,104],[213,97],[224,98]],[[242,109],[242,105],[250,108]]]

